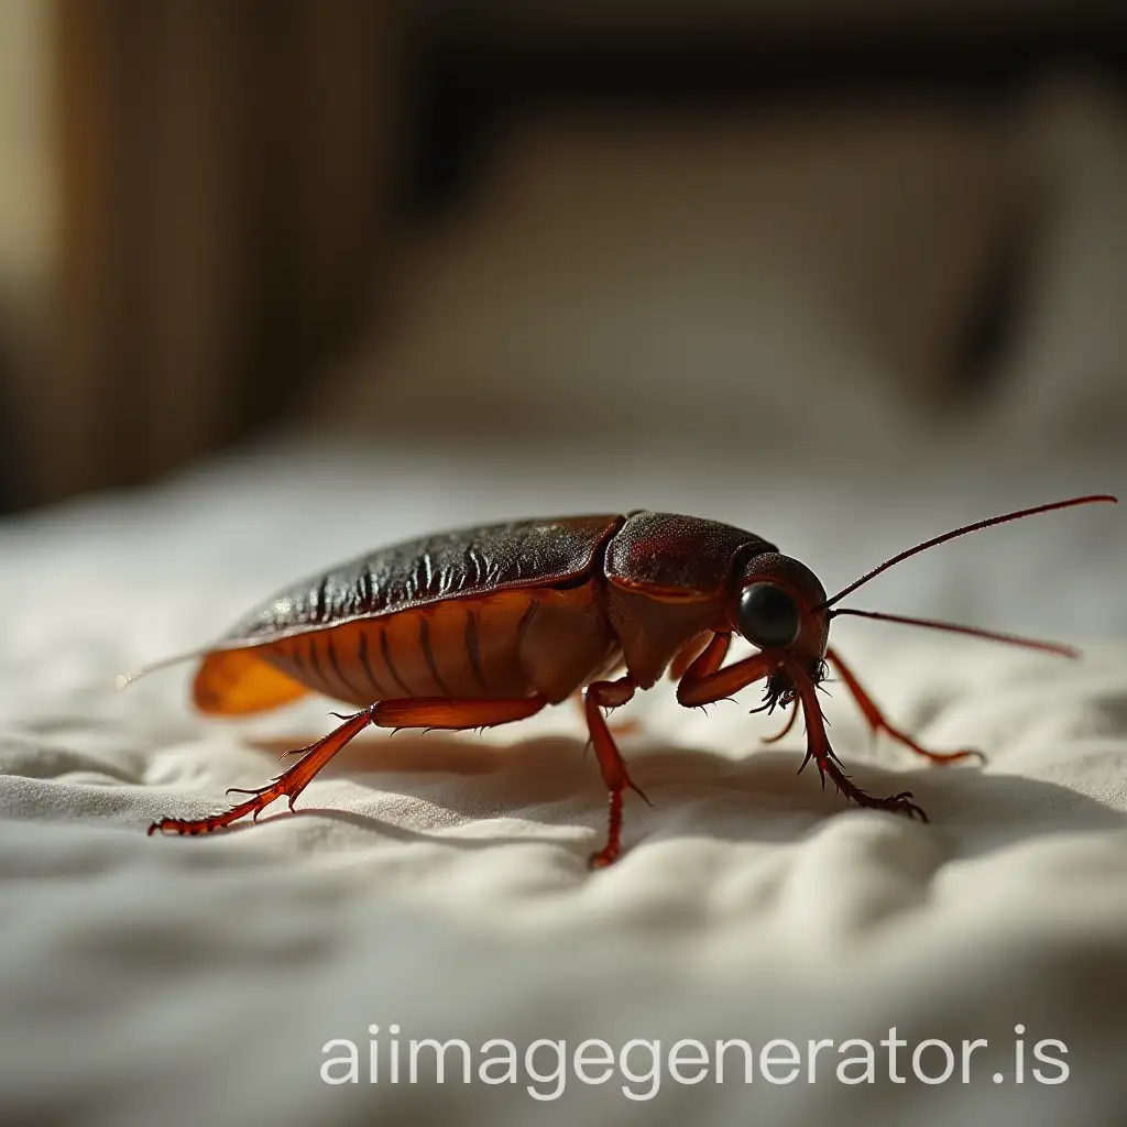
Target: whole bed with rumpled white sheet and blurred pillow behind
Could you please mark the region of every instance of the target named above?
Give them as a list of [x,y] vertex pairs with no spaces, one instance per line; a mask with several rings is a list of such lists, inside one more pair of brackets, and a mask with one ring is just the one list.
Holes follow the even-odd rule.
[[[1051,133],[1045,128],[1039,135]],[[965,135],[955,135],[965,153]],[[948,153],[942,167],[953,159],[951,136],[937,142]],[[1080,660],[835,624],[835,644],[897,722],[930,746],[977,746],[988,756],[983,767],[924,766],[872,742],[842,686],[828,686],[831,738],[850,772],[871,791],[914,791],[929,825],[851,808],[811,770],[796,775],[800,727],[760,746],[774,725],[747,716],[755,691],[702,716],[659,685],[625,710],[637,730],[622,737],[653,807],[628,798],[627,852],[603,872],[588,872],[585,860],[602,832],[605,793],[584,757],[580,720],[566,707],[481,736],[373,733],[334,761],[294,815],[272,808],[254,827],[207,838],[145,836],[159,816],[210,813],[227,787],[265,782],[278,754],[327,730],[334,706],[309,699],[223,722],[190,711],[188,668],[119,693],[114,676],[207,642],[270,591],[366,548],[517,514],[654,507],[761,531],[835,589],[948,527],[1072,494],[1124,491],[1113,332],[1107,364],[1088,355],[1070,369],[1075,350],[1063,341],[1084,327],[1070,319],[1073,298],[1050,300],[1102,294],[1107,279],[1106,270],[1085,274],[1090,258],[1066,252],[1075,233],[1066,202],[1050,224],[1058,241],[1049,247],[1059,252],[1045,259],[1047,296],[1009,353],[1013,371],[961,421],[935,406],[926,365],[907,394],[891,378],[938,331],[948,292],[934,289],[912,334],[902,325],[895,340],[873,338],[861,331],[867,313],[804,289],[804,278],[824,277],[817,267],[788,291],[787,310],[813,310],[795,314],[802,327],[795,331],[758,298],[748,301],[770,316],[752,327],[739,308],[717,313],[709,286],[727,284],[720,267],[731,263],[710,259],[716,270],[692,275],[699,301],[681,334],[657,332],[668,345],[654,346],[658,383],[631,388],[632,376],[612,383],[591,358],[646,370],[615,352],[629,339],[613,336],[620,321],[607,316],[610,338],[592,330],[577,343],[578,322],[559,314],[575,308],[561,286],[584,292],[582,278],[568,282],[569,240],[561,239],[550,293],[520,285],[527,239],[518,224],[538,227],[544,185],[562,198],[579,190],[568,169],[602,167],[603,187],[618,183],[629,196],[629,176],[650,175],[645,161],[613,172],[569,162],[576,147],[615,149],[605,137],[576,137],[569,126],[553,145],[517,148],[486,194],[517,202],[500,210],[517,224],[508,240],[498,241],[500,220],[486,207],[423,256],[390,345],[365,345],[327,373],[307,426],[157,486],[0,529],[0,1118],[832,1118],[926,1127],[1101,1125],[1121,1116],[1127,524],[1111,506],[944,545],[855,598],[1076,644]],[[811,144],[833,167],[825,145]],[[887,151],[877,144],[875,159]],[[889,159],[903,163],[903,152]],[[716,166],[699,154],[694,167]],[[923,160],[920,183],[929,167]],[[1107,192],[1100,198],[1121,205],[1106,179],[1121,163],[1092,167]],[[919,198],[912,215],[930,202]],[[950,269],[978,260],[980,232],[999,214],[991,208],[982,224],[952,216],[940,233],[965,231],[976,242],[947,256]],[[879,223],[876,211],[869,221]],[[1108,214],[1112,222],[1115,210]],[[780,230],[751,232],[748,254],[761,264],[771,254],[793,260]],[[930,229],[903,230],[915,239]],[[676,274],[663,263],[609,252],[607,268],[632,265],[601,275],[600,304],[636,293],[647,272]],[[502,277],[515,278],[513,292],[498,291]],[[845,270],[835,292],[855,277]],[[663,300],[684,311],[691,296],[650,292],[651,322],[663,323],[653,313]],[[829,316],[834,309],[845,312]],[[437,310],[445,335],[431,331]],[[502,332],[514,320],[531,327],[527,336]],[[684,376],[689,357],[700,355],[693,346],[718,339],[725,347]],[[669,350],[678,341],[680,356]],[[536,343],[545,356],[540,382],[522,380],[514,373],[527,372]],[[734,374],[731,356],[790,375],[764,394]],[[1046,356],[1058,357],[1055,367]],[[381,365],[409,378],[364,378]],[[450,376],[455,365],[459,380]],[[569,369],[589,380],[569,387],[589,394],[560,393]],[[1088,390],[1077,396],[1081,380]],[[611,392],[605,412],[592,408],[601,390]],[[412,420],[428,405],[427,426],[418,427]],[[689,421],[694,405],[708,409],[701,425]],[[879,1048],[889,1037],[905,1042],[903,1083],[889,1077]],[[443,1083],[433,1053],[417,1083],[406,1074],[392,1082],[397,1038],[405,1054],[409,1038],[464,1040],[473,1081],[462,1082],[455,1048]],[[514,1082],[479,1077],[490,1039],[515,1044]],[[538,1039],[565,1041],[569,1061],[582,1041],[605,1041],[615,1063],[602,1083],[571,1065],[553,1079],[551,1045],[526,1067]],[[621,1066],[632,1039],[660,1041],[659,1082],[646,1044]],[[686,1039],[710,1054],[699,1083],[678,1081],[668,1066],[672,1046]],[[877,1047],[873,1082],[837,1077],[838,1047],[850,1039]],[[988,1044],[973,1050],[964,1081],[962,1046],[976,1039]],[[740,1049],[725,1057],[717,1083],[720,1040],[755,1050],[749,1084]],[[833,1045],[815,1051],[818,1040]],[[913,1070],[913,1051],[928,1040],[957,1055],[942,1083]],[[358,1047],[356,1082],[330,1083],[350,1081],[347,1062],[322,1073],[350,1051],[345,1041]],[[769,1061],[764,1072],[758,1054],[772,1041],[784,1063]],[[781,1041],[798,1047],[800,1063],[775,1083],[791,1074]],[[375,1080],[373,1042],[383,1070]],[[921,1051],[926,1077],[943,1073],[942,1047]],[[1063,1061],[1066,1075],[1046,1058]]]

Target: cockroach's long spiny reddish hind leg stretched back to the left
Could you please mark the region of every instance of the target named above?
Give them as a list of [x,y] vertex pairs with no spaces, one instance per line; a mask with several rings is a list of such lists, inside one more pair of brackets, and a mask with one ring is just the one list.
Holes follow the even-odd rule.
[[250,795],[245,802],[231,807],[223,814],[206,818],[161,818],[149,827],[149,833],[206,834],[248,814],[257,820],[258,815],[270,802],[285,796],[290,809],[298,796],[309,786],[313,777],[350,739],[360,735],[370,724],[378,728],[489,728],[511,720],[523,720],[539,712],[545,704],[543,696],[512,698],[446,698],[415,696],[402,700],[379,701],[354,716],[346,717],[344,724],[329,735],[295,754],[301,758],[289,771],[284,771],[267,786],[258,790],[241,790],[232,787],[228,793]]

